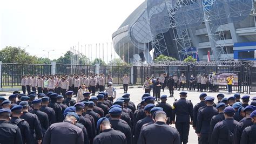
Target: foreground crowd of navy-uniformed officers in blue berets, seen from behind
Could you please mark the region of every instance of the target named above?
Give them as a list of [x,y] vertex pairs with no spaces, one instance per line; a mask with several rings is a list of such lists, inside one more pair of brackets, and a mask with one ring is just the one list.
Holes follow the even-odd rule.
[[[187,92],[168,104],[167,95],[144,93],[136,106],[124,93],[115,99],[107,92],[97,97],[84,92],[74,100],[73,91],[63,95],[15,91],[0,97],[0,143],[189,143],[190,125],[199,143],[255,143],[256,97],[218,94],[218,102],[206,93],[193,106]],[[250,102],[250,104],[249,104]],[[176,128],[170,125],[174,124]]]

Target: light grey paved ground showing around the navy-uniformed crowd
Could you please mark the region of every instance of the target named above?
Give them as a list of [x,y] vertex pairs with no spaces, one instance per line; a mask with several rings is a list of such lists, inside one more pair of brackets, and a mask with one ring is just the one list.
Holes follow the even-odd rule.
[[[124,91],[122,89],[118,89],[117,90],[117,98],[122,97],[123,92]],[[10,95],[11,92],[1,92],[1,94],[5,94],[5,93],[6,93],[6,95]],[[139,104],[139,102],[141,100],[141,97],[142,97],[144,91],[143,91],[143,88],[129,88],[128,93],[131,94],[131,97],[130,97],[131,101],[133,101],[135,103],[135,105],[137,106],[137,104]],[[221,93],[224,93],[225,97],[227,97],[227,98],[234,94],[234,93],[233,94],[228,94],[225,91],[221,91]],[[152,92],[151,92],[151,94],[152,94]],[[163,94],[170,95],[168,90],[165,90],[164,92],[161,92],[161,95],[163,95]],[[193,105],[196,105],[200,101],[199,100],[199,94],[200,94],[200,92],[188,92],[187,99],[190,99],[193,102]],[[217,94],[218,93],[215,93],[215,92],[214,93],[207,93],[207,95],[211,95],[215,98],[216,98]],[[241,94],[241,95],[245,95],[245,94]],[[255,93],[250,94],[250,95],[251,95],[251,97],[256,96]],[[179,91],[174,91],[174,97],[176,99],[179,99]],[[8,96],[5,96],[5,98],[8,98]],[[173,102],[174,102],[174,98],[168,98],[167,102],[172,105]],[[215,99],[215,102],[217,102],[217,99]],[[171,126],[174,127],[174,125],[171,125]],[[188,138],[188,143],[196,144],[196,143],[198,143],[197,139],[198,139],[197,135],[196,135],[196,133],[194,133],[194,129],[191,126],[190,127],[190,135],[189,135],[189,138]]]

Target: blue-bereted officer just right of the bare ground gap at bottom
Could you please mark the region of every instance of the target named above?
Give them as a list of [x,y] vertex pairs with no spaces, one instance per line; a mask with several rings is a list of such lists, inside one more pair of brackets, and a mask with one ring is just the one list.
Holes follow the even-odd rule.
[[198,111],[196,133],[199,143],[208,143],[208,134],[210,130],[210,122],[214,115],[218,114],[218,110],[213,107],[214,97],[205,97],[206,107]]

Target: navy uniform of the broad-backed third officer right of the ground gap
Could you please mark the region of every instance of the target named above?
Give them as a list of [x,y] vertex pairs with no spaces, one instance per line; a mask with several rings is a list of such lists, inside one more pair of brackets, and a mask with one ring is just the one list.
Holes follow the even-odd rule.
[[230,141],[228,138],[228,130],[234,133],[235,125],[238,124],[239,123],[233,118],[228,118],[217,123],[212,132],[211,142],[219,144],[232,143],[232,141]]

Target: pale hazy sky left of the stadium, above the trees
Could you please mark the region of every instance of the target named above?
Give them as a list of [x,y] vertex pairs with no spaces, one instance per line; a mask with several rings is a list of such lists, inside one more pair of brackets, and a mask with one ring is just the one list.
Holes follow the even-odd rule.
[[[94,59],[97,44],[97,57],[104,56],[106,61],[108,56],[109,61],[112,33],[143,1],[145,0],[1,1],[0,50],[5,46],[20,46],[37,57],[48,57],[46,51],[54,50],[50,52],[50,59],[55,59],[63,56],[70,47],[78,45],[79,51],[83,51],[88,57],[88,45],[91,44]],[[99,43],[102,53],[100,56]],[[118,56],[113,53],[112,57]]]

